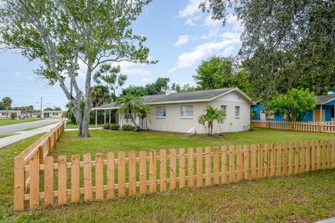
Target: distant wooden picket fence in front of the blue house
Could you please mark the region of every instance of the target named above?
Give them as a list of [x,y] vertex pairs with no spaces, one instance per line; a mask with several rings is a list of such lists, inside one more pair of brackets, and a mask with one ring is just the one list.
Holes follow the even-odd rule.
[[335,133],[335,122],[251,121],[251,126],[292,132]]

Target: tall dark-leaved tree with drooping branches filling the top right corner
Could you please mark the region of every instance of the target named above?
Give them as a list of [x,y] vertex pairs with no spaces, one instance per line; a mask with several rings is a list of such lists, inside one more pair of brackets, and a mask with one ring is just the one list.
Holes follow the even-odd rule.
[[259,98],[292,87],[317,94],[335,88],[334,1],[206,0],[200,8],[212,20],[225,24],[234,14],[243,24],[239,55]]

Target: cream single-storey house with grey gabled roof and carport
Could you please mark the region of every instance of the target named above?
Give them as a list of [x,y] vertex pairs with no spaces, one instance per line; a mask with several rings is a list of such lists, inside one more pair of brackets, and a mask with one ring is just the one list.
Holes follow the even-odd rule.
[[[246,131],[250,127],[250,106],[254,105],[251,98],[238,88],[146,95],[143,97],[143,103],[151,106],[151,114],[145,123],[147,129],[190,133],[206,133],[204,126],[198,123],[198,117],[204,114],[207,105],[221,109],[226,114],[223,124],[214,122],[213,132]],[[111,103],[95,107],[94,110],[117,108]],[[117,116],[115,122],[121,126],[133,125],[129,114]],[[137,114],[135,123],[140,123]]]

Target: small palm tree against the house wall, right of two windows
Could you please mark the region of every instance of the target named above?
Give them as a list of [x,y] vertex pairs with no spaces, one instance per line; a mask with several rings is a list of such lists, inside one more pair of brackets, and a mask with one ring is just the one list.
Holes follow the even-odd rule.
[[204,109],[204,112],[206,114],[202,114],[198,118],[198,122],[202,125],[205,125],[205,123],[208,123],[208,135],[211,135],[213,133],[213,123],[216,120],[218,123],[223,123],[223,120],[225,118],[225,112],[222,112],[220,109],[216,109],[214,107],[211,107],[211,105],[208,105],[206,109]]

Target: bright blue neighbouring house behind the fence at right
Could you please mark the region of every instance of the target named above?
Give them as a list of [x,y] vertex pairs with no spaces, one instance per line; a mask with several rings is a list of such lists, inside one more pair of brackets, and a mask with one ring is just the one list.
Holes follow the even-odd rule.
[[[308,111],[302,121],[335,121],[335,93],[330,91],[328,95],[318,95],[315,97],[318,99],[318,105],[316,105],[315,109]],[[252,105],[251,109],[256,111],[256,116],[253,117],[253,120],[286,121],[284,116],[264,111],[264,106],[259,102],[257,105]]]

